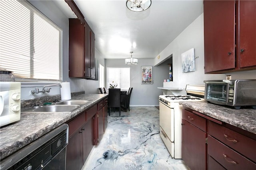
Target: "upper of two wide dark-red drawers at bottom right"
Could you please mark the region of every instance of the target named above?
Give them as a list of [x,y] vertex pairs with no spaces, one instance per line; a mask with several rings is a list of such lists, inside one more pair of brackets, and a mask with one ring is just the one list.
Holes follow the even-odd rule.
[[208,134],[256,162],[256,141],[253,139],[212,121],[208,123]]

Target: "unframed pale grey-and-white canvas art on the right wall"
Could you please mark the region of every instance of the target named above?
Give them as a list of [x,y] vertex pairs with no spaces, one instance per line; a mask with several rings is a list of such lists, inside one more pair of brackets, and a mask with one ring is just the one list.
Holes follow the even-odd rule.
[[190,49],[181,54],[182,72],[195,71],[195,51]]

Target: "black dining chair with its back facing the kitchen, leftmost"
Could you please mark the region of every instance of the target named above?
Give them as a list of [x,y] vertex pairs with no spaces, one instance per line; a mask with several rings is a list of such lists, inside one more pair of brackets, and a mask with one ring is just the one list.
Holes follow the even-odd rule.
[[119,116],[121,115],[121,89],[120,88],[108,89],[108,107],[109,107],[109,115],[111,112],[111,107],[119,107]]

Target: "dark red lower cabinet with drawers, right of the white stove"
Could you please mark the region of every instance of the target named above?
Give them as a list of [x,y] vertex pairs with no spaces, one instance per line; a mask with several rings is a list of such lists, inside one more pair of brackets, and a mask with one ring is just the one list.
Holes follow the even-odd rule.
[[182,159],[191,170],[256,170],[255,134],[188,110],[182,110]]

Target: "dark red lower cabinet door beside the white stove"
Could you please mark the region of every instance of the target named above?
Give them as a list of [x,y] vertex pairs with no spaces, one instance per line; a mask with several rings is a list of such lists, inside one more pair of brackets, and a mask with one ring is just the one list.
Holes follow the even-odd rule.
[[182,159],[191,170],[206,169],[206,133],[182,119]]

